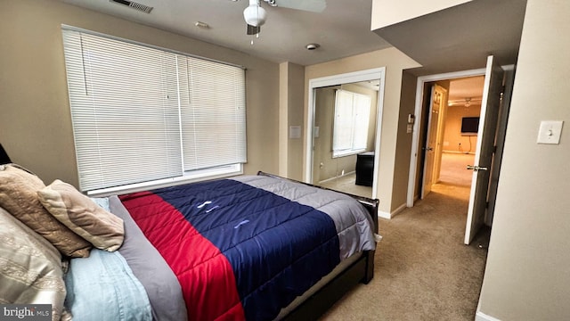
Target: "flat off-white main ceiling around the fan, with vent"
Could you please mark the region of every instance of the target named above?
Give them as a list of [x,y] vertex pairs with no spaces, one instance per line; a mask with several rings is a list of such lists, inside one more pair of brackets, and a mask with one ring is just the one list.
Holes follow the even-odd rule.
[[[246,35],[243,10],[248,0],[135,0],[154,7],[150,14],[109,0],[59,1],[223,45],[272,62],[305,66],[391,46],[371,31],[372,0],[328,0],[321,13],[271,7],[262,2],[268,17],[259,38]],[[196,21],[206,22],[210,28],[199,29],[194,25]],[[253,45],[250,44],[252,39]],[[321,47],[309,51],[305,49],[309,43],[318,43]]]

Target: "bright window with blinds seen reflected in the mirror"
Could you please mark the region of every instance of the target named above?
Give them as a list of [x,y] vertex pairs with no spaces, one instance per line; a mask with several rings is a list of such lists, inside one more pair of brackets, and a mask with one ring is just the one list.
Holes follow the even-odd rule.
[[366,150],[371,117],[371,97],[337,90],[332,139],[332,157]]

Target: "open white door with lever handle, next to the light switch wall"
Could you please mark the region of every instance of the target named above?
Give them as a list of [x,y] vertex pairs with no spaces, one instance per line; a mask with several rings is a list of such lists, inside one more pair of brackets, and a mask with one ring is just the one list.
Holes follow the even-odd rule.
[[494,61],[493,56],[487,57],[475,160],[473,165],[468,166],[468,169],[473,170],[473,179],[471,180],[467,225],[465,228],[466,244],[473,241],[476,233],[485,222],[489,177],[501,105],[502,80],[503,70],[501,66]]

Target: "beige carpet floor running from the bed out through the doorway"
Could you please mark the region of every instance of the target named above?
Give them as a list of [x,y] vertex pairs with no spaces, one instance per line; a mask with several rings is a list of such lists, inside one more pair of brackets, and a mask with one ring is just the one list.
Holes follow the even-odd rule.
[[[468,176],[443,167],[448,175]],[[322,320],[475,318],[490,231],[463,244],[469,187],[445,179],[413,208],[380,219],[374,279],[348,292]]]

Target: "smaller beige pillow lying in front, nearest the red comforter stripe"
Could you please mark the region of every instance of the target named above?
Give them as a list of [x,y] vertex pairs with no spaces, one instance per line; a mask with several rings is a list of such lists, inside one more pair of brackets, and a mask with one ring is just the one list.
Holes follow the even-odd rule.
[[103,210],[75,187],[59,179],[37,192],[39,201],[65,226],[104,251],[123,243],[123,219]]

